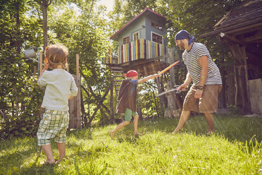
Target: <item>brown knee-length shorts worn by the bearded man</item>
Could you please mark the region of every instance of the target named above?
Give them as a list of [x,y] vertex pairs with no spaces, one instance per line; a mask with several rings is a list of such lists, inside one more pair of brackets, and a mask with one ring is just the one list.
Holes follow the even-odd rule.
[[216,113],[218,110],[218,93],[221,92],[222,85],[205,85],[200,99],[194,97],[196,88],[197,86],[193,85],[189,92],[187,92],[183,110],[199,113]]

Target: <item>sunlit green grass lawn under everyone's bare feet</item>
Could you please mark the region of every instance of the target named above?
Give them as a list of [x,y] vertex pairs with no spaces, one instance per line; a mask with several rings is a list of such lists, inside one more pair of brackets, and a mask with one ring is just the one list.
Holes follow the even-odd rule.
[[262,118],[216,116],[213,135],[204,116],[170,134],[177,123],[139,121],[144,135],[133,137],[130,124],[113,140],[108,131],[116,125],[70,131],[68,158],[55,166],[40,165],[37,138],[1,140],[0,174],[262,174]]

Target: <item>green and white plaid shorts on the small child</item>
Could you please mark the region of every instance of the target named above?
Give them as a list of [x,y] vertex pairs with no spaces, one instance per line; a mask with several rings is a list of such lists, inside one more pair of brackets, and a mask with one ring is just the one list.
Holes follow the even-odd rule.
[[38,145],[49,145],[51,138],[54,138],[56,143],[66,143],[68,124],[68,111],[46,109],[42,114],[42,120],[37,131]]

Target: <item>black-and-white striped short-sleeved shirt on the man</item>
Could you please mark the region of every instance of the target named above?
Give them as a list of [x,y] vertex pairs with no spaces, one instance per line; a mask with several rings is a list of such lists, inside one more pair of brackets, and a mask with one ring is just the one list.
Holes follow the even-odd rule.
[[218,66],[216,66],[215,62],[212,60],[206,46],[199,42],[194,42],[189,52],[185,49],[185,52],[182,54],[183,61],[187,66],[187,71],[194,85],[199,85],[200,80],[201,67],[198,60],[201,56],[205,55],[208,56],[208,73],[205,85],[221,85],[222,80]]

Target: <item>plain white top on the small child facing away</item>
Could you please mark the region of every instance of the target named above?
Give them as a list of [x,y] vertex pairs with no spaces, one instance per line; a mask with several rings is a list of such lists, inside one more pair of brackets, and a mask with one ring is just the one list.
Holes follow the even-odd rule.
[[43,108],[68,111],[68,96],[77,95],[77,86],[70,73],[61,68],[56,68],[52,71],[44,71],[37,83],[41,87],[46,87],[42,102]]

